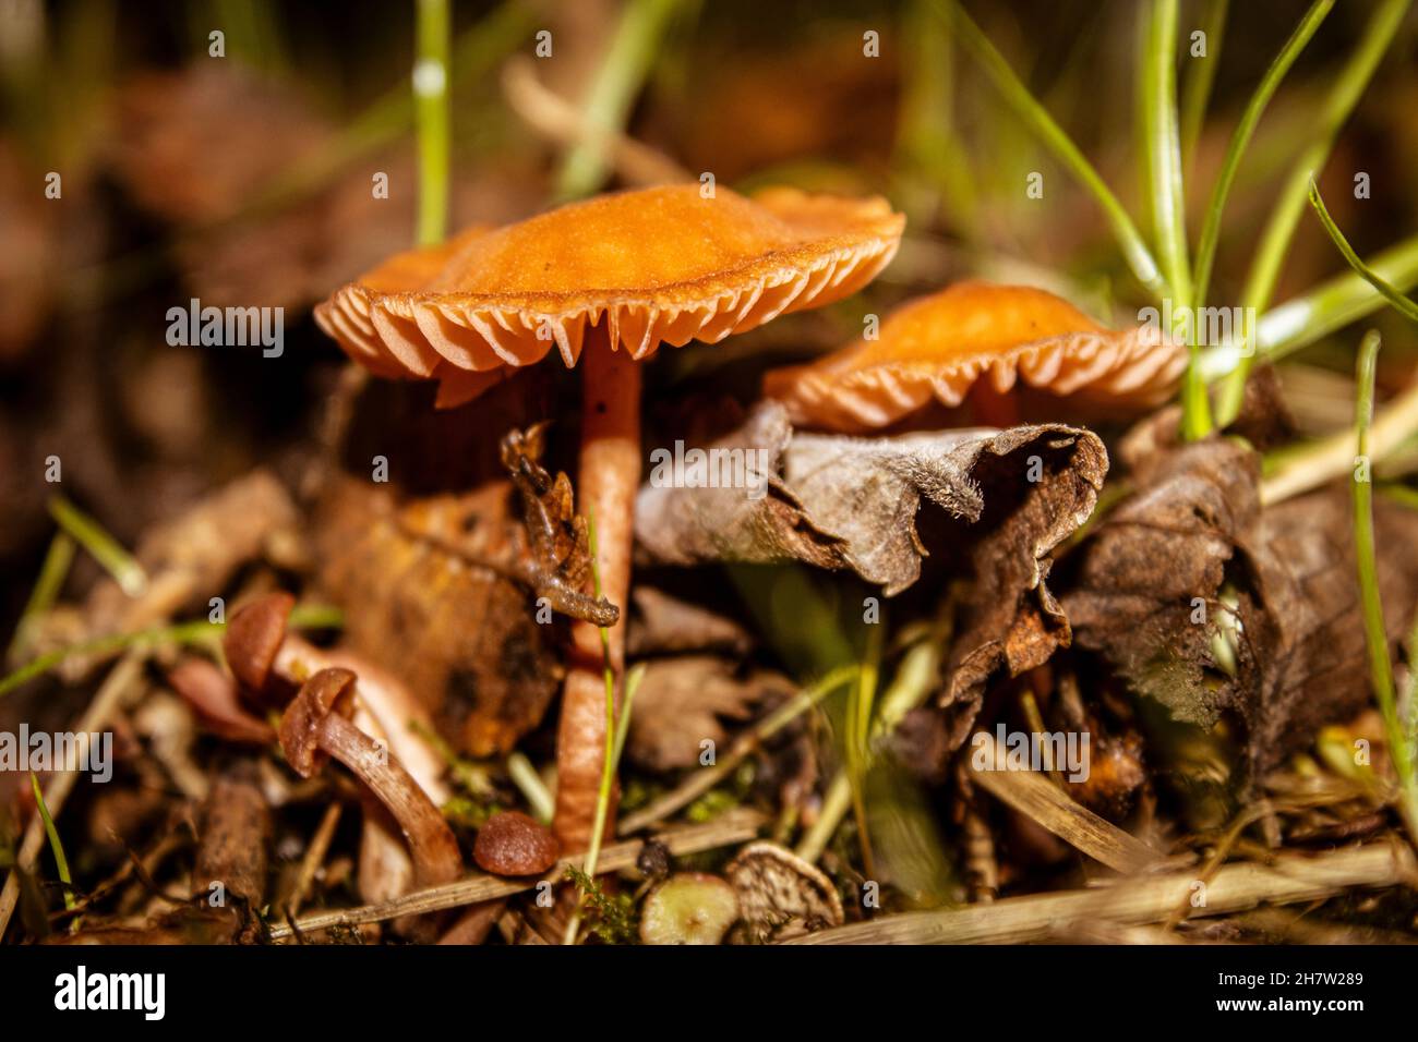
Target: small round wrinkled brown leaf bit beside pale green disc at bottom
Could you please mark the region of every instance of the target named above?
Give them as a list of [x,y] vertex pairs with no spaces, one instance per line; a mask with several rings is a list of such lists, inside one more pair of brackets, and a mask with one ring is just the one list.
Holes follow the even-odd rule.
[[743,940],[749,943],[800,937],[841,926],[845,919],[832,880],[777,844],[749,844],[729,862],[725,876],[739,895]]

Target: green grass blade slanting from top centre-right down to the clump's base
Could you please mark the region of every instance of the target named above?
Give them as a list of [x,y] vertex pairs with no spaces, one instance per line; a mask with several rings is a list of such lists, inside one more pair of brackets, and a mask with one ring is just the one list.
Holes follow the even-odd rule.
[[937,10],[947,20],[951,34],[980,64],[1015,115],[1034,130],[1044,146],[1054,153],[1054,157],[1093,196],[1103,210],[1103,217],[1117,238],[1119,247],[1122,247],[1127,267],[1132,268],[1137,281],[1161,302],[1167,295],[1166,279],[1163,279],[1147,242],[1137,231],[1137,225],[1133,224],[1133,218],[1117,201],[1117,196],[1107,187],[1092,163],[1083,157],[1072,139],[1054,122],[1048,111],[1029,94],[1029,88],[1014,74],[1010,62],[970,20],[957,0],[940,0]]

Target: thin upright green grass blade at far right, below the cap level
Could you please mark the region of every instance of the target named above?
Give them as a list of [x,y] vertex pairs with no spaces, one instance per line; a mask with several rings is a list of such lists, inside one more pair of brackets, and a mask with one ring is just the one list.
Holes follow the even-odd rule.
[[1354,410],[1354,559],[1358,564],[1358,593],[1368,645],[1368,671],[1374,699],[1384,720],[1388,754],[1398,775],[1398,809],[1409,836],[1418,842],[1418,778],[1414,775],[1412,750],[1398,717],[1394,692],[1394,668],[1388,658],[1388,631],[1384,605],[1378,595],[1378,564],[1374,556],[1374,483],[1368,465],[1368,431],[1374,421],[1374,371],[1378,364],[1378,332],[1370,330],[1358,347],[1358,400]]

